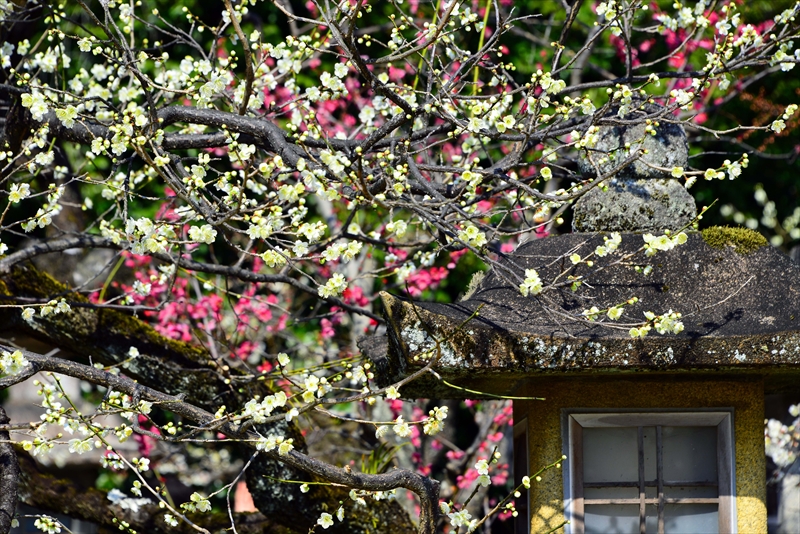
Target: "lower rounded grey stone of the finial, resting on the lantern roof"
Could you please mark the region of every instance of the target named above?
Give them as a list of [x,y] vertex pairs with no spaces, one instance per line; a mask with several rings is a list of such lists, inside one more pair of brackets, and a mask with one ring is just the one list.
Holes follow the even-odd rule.
[[678,230],[697,216],[692,195],[680,182],[611,178],[574,207],[576,232],[662,232]]

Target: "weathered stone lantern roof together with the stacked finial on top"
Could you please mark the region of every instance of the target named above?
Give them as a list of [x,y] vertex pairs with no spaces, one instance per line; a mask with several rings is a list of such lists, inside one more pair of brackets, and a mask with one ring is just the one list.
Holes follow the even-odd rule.
[[[652,106],[640,110],[655,111]],[[604,127],[598,150],[611,153],[612,147],[629,143],[628,135]],[[645,136],[646,142],[660,139],[661,145],[647,150],[644,168],[684,166],[682,135],[682,129],[668,124]],[[602,165],[603,158],[593,163],[604,172]],[[386,335],[359,344],[375,363],[378,383],[408,378],[435,360],[429,371],[403,385],[403,396],[513,396],[523,380],[565,374],[596,379],[737,375],[763,379],[768,392],[796,384],[798,265],[743,228],[687,231],[685,243],[646,255],[647,232],[659,228],[675,236],[696,211],[691,196],[679,184],[676,189],[677,181],[666,171],[627,169],[577,203],[576,230],[592,231],[522,244],[503,256],[468,298],[438,304],[383,293]],[[664,190],[680,193],[664,196]],[[617,250],[593,255],[614,233],[621,238]],[[573,264],[574,254],[591,258],[592,265]],[[520,283],[529,269],[536,270],[543,290],[523,296]],[[581,282],[578,287],[575,280]],[[606,314],[611,307],[623,310],[617,320]],[[651,313],[680,313],[676,320],[683,330],[660,334],[651,328],[646,336],[632,337],[630,329]]]

